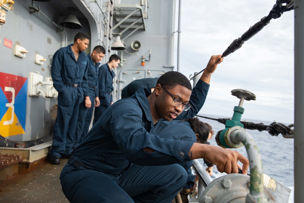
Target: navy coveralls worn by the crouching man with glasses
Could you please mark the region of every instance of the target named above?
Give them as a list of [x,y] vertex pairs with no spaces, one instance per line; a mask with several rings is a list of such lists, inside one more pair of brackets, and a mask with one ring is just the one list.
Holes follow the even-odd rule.
[[[208,89],[209,84],[199,80],[190,97],[192,108],[178,119],[194,117]],[[190,160],[194,142],[156,135],[167,124],[162,119],[153,124],[150,94],[141,88],[115,102],[72,152],[60,174],[62,191],[70,202],[167,203],[185,185],[187,172],[176,163]],[[142,150],[147,147],[156,151]]]

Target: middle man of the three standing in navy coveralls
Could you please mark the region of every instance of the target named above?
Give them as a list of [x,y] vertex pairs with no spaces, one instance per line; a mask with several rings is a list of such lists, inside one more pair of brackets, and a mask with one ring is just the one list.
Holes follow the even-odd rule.
[[98,107],[100,104],[98,97],[98,67],[99,61],[105,56],[105,48],[98,45],[94,47],[88,57],[88,87],[85,91],[85,99],[79,105],[78,123],[76,134],[74,137],[74,148],[79,144],[79,141],[88,134],[89,126],[92,120],[94,104]]

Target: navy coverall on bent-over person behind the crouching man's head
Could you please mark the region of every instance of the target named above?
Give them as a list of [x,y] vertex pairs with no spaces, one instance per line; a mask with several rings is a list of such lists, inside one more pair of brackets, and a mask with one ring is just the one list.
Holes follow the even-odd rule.
[[121,91],[121,98],[124,99],[132,96],[141,87],[145,87],[151,90],[151,88],[156,86],[156,82],[158,78],[143,78],[143,79],[134,80],[129,85],[123,88],[123,90]]

